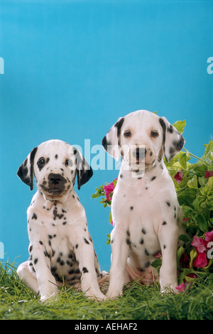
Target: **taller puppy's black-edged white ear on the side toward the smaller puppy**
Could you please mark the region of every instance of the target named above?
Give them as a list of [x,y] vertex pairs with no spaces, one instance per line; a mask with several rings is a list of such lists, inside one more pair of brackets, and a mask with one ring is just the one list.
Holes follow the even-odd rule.
[[121,154],[121,127],[124,123],[124,117],[120,117],[118,121],[111,127],[109,132],[102,139],[104,149],[113,156],[116,161],[119,160]]

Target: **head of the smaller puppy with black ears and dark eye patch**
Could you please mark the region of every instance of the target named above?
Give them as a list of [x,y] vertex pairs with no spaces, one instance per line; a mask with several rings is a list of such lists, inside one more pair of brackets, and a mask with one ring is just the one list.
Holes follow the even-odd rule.
[[38,190],[52,198],[70,193],[77,176],[77,188],[87,183],[93,171],[79,150],[60,140],[45,141],[29,153],[18,168],[21,181],[33,190],[33,174]]

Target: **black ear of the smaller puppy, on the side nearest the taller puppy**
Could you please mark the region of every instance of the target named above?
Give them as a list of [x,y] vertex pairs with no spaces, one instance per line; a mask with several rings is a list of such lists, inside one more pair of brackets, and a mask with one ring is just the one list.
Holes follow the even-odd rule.
[[84,159],[82,153],[75,147],[74,155],[76,158],[76,169],[77,169],[77,188],[80,190],[81,186],[89,181],[93,176],[92,167],[89,166],[89,163]]

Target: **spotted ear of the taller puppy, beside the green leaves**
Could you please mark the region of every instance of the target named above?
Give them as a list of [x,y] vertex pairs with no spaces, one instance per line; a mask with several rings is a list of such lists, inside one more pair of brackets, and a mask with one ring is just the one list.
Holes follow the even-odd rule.
[[169,162],[173,156],[182,150],[185,139],[165,117],[160,117],[159,122],[163,128],[164,155],[166,161]]

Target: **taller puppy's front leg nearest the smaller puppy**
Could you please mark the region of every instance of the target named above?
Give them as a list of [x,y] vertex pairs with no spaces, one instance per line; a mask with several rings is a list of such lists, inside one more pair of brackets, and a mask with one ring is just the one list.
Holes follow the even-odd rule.
[[125,268],[129,254],[129,239],[123,226],[116,224],[111,232],[111,268],[109,289],[106,296],[114,298],[122,296],[125,283]]

